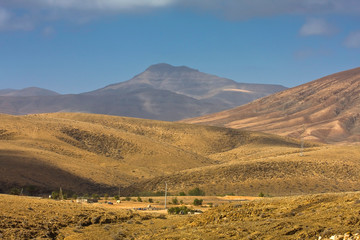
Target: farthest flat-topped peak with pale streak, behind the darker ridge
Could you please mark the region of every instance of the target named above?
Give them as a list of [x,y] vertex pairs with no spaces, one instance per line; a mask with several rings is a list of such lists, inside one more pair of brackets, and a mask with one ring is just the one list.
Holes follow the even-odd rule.
[[231,108],[257,98],[285,90],[280,85],[237,83],[233,80],[180,66],[160,63],[147,68],[129,81],[112,84],[90,94],[103,95],[128,89],[152,88],[171,91],[202,102],[214,108]]

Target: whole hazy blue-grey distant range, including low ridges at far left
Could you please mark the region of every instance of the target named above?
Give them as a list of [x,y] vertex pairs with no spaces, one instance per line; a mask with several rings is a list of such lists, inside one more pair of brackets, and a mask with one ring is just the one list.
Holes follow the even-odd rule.
[[30,90],[0,91],[0,112],[87,112],[176,121],[229,109],[284,89],[237,83],[184,66],[156,64],[128,81],[82,94],[43,96],[34,89],[32,94]]

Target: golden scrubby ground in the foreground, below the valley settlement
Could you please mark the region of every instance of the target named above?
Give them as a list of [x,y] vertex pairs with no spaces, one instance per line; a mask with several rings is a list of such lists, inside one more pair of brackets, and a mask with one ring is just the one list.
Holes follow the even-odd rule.
[[189,216],[0,195],[1,239],[326,239],[359,231],[359,192],[236,201]]

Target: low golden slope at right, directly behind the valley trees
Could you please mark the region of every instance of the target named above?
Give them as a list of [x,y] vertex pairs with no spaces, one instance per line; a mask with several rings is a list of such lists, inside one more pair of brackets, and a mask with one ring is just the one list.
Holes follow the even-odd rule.
[[359,146],[308,146],[303,156],[284,147],[248,145],[216,154],[232,159],[219,166],[184,170],[138,184],[138,191],[172,192],[198,186],[207,194],[272,196],[360,190]]

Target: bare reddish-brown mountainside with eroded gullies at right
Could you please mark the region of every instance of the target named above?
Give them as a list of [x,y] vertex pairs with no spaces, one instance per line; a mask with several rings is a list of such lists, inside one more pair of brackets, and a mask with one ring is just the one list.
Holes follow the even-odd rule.
[[360,141],[360,68],[231,110],[185,120],[327,143]]

